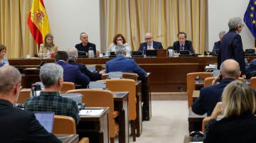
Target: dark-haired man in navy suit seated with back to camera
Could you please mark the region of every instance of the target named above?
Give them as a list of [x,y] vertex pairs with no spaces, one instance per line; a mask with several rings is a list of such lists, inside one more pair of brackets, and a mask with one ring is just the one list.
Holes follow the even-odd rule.
[[73,82],[75,85],[81,85],[82,88],[87,88],[90,79],[85,74],[82,74],[78,66],[68,64],[68,53],[58,51],[55,56],[55,63],[63,67],[63,80]]

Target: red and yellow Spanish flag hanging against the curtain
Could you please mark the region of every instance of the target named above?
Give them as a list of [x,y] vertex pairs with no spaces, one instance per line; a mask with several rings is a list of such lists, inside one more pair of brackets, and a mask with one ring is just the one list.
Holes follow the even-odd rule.
[[43,43],[45,35],[50,33],[48,16],[43,0],[33,0],[27,23],[36,43],[38,45]]

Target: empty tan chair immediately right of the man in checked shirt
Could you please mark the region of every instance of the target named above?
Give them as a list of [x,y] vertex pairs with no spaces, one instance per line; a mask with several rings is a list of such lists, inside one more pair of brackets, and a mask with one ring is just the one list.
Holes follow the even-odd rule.
[[110,107],[109,114],[109,133],[110,142],[114,142],[114,136],[119,132],[119,125],[115,122],[119,111],[114,111],[114,98],[111,91],[102,89],[75,89],[66,93],[81,93],[82,103],[88,107]]

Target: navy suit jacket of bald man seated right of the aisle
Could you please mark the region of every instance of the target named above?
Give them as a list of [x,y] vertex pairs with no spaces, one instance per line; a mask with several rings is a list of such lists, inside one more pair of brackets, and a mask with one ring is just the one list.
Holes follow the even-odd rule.
[[201,88],[199,98],[192,104],[192,110],[198,115],[207,113],[211,115],[215,105],[221,101],[221,94],[225,86],[227,86],[234,79],[223,79],[220,84],[206,86]]

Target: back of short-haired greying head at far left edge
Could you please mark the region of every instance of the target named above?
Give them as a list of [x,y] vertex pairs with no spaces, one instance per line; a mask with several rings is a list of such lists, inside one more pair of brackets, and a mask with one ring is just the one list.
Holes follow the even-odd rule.
[[15,85],[21,84],[21,74],[15,67],[0,67],[0,93],[9,93]]

